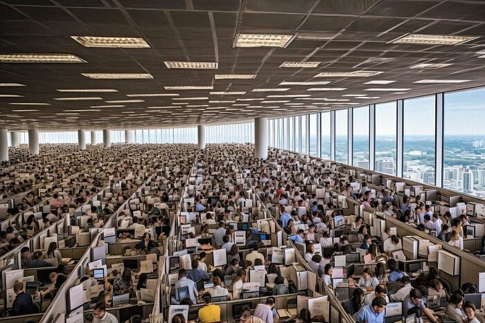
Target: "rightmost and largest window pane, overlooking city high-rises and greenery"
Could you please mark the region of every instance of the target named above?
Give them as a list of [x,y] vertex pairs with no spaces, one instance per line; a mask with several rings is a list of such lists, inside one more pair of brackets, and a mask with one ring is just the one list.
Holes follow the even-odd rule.
[[485,89],[445,93],[443,187],[485,197]]

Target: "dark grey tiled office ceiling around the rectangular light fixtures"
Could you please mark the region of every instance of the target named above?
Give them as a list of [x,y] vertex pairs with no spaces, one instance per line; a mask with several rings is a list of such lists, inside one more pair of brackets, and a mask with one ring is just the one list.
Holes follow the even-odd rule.
[[[0,62],[0,83],[25,85],[0,86],[0,127],[182,127],[358,107],[482,86],[485,84],[485,58],[479,56],[485,53],[479,55],[477,52],[485,50],[484,21],[485,1],[468,0],[3,0],[0,1],[0,55],[65,53],[76,55],[86,63]],[[287,48],[234,48],[234,39],[240,33],[295,37]],[[389,44],[408,33],[477,38],[455,46]],[[142,37],[150,48],[87,48],[71,36]],[[168,69],[164,61],[217,62],[218,68]],[[280,68],[283,62],[321,63],[312,68]],[[422,63],[452,65],[410,68]],[[322,72],[352,71],[382,73],[372,77],[315,77]],[[94,80],[81,73],[150,73],[153,78]],[[215,74],[255,74],[256,77],[253,80],[215,80]],[[414,83],[429,79],[468,82]],[[364,84],[372,80],[395,82]],[[306,81],[330,83],[279,85],[280,82]],[[213,90],[166,91],[164,86],[213,86]],[[345,90],[307,91],[315,87]],[[261,88],[289,90],[252,92]],[[371,88],[409,90],[365,91]],[[57,89],[115,89],[117,92],[62,93]],[[246,93],[210,95],[211,91]],[[147,93],[179,96],[127,96]],[[266,98],[267,95],[308,94],[310,98],[327,100]],[[344,96],[362,94],[367,98]],[[69,97],[103,100],[54,100]],[[173,100],[200,97],[209,100]],[[266,98],[269,102],[209,102],[252,98]],[[105,102],[130,99],[145,102]],[[48,105],[10,104],[18,102]],[[113,104],[126,107],[91,108]]]

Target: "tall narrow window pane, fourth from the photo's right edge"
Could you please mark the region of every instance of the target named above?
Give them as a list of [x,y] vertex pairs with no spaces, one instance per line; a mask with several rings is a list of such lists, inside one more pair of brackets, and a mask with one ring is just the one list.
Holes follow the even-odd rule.
[[352,124],[352,165],[369,169],[369,106],[353,109]]

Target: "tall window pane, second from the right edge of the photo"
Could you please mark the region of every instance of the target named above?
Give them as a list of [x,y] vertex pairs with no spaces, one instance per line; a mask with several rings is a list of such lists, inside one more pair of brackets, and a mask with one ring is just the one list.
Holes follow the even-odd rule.
[[435,97],[404,100],[403,177],[434,185]]

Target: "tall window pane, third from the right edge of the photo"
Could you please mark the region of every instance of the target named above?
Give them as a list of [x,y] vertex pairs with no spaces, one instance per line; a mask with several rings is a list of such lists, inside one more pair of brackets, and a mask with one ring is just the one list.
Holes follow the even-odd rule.
[[376,104],[376,172],[396,175],[397,102]]

